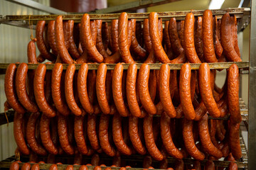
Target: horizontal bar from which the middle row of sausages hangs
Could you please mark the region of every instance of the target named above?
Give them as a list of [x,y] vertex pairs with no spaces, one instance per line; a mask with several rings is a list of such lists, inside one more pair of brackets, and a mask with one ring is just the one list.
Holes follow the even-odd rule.
[[[208,63],[210,69],[228,69],[232,64],[237,64],[239,68],[249,67],[248,62],[217,62]],[[67,69],[69,64],[63,64],[63,69]],[[97,69],[100,64],[88,64],[88,69]],[[107,69],[114,69],[116,64],[107,64]],[[149,64],[150,69],[160,69],[162,64]],[[181,69],[183,64],[169,64],[171,69]],[[191,69],[199,69],[200,64],[190,64]],[[0,63],[0,73],[4,73],[5,69],[9,66],[9,63]],[[18,67],[18,64],[16,64]],[[53,69],[55,64],[46,64],[46,69]],[[80,69],[81,64],[75,64],[75,69]],[[137,68],[139,69],[142,63],[137,63]],[[28,69],[36,69],[38,64],[28,64]],[[128,69],[129,64],[123,64],[124,69]]]

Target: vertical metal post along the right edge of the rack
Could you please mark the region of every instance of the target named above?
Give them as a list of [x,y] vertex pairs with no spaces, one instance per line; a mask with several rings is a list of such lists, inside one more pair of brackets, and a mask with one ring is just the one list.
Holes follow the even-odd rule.
[[250,14],[250,67],[249,67],[249,130],[248,169],[256,167],[256,0],[251,0]]

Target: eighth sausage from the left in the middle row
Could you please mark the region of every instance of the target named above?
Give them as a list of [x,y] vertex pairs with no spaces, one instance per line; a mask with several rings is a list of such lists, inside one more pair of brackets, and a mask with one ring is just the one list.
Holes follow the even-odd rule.
[[129,115],[129,110],[124,103],[124,97],[122,93],[122,77],[123,77],[123,66],[118,63],[114,67],[113,77],[112,77],[112,93],[114,104],[120,115],[126,117]]

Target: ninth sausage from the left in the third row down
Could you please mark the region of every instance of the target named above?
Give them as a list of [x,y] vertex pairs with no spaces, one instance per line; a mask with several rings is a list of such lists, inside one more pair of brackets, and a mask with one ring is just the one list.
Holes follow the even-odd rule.
[[129,116],[129,137],[134,149],[139,154],[146,154],[146,148],[142,144],[142,140],[139,137],[139,118],[132,115]]

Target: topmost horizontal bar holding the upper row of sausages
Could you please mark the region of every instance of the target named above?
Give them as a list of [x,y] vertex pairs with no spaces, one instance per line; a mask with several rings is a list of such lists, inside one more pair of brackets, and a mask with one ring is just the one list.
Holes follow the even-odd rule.
[[[159,12],[159,18],[163,18],[163,20],[169,20],[171,17],[176,17],[177,20],[184,19],[187,13],[192,12],[194,16],[203,16],[204,10],[193,10],[193,11],[169,11],[169,12]],[[239,19],[242,18],[244,13],[250,13],[250,8],[227,8],[227,9],[215,9],[212,10],[213,16],[218,16],[220,18],[225,13],[235,14],[235,16]],[[33,16],[1,16],[0,23],[4,21],[50,21],[55,20],[58,15],[33,15]],[[149,13],[128,13],[128,18],[137,19],[137,21],[143,21],[144,18],[148,18]],[[64,20],[74,20],[80,21],[82,18],[82,14],[68,14],[63,15]],[[118,19],[119,13],[102,13],[102,14],[90,14],[90,19],[101,19],[106,21],[111,21],[112,19]]]

